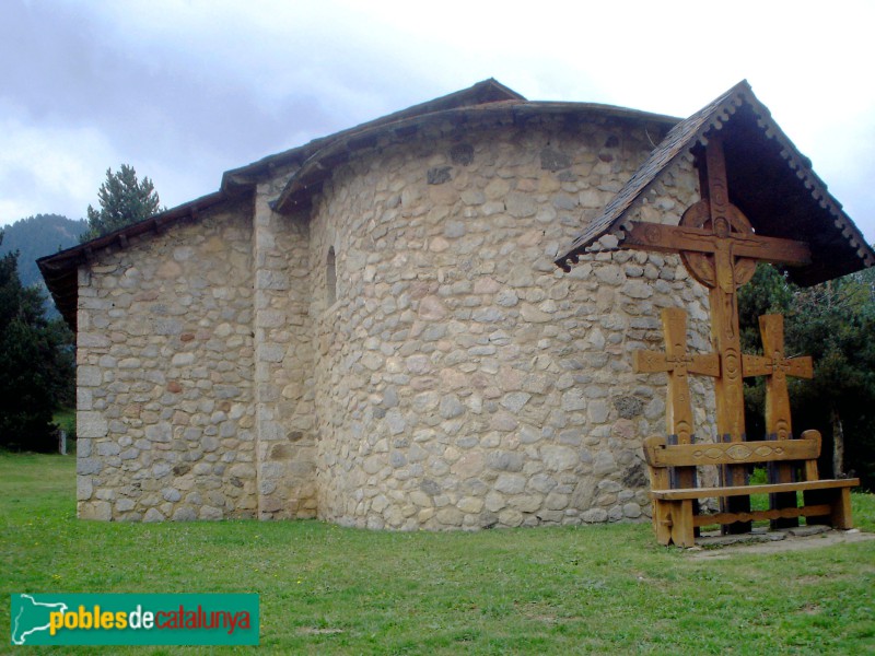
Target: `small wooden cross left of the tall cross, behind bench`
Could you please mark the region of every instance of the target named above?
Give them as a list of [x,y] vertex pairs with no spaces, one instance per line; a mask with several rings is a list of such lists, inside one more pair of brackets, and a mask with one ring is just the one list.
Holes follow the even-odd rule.
[[[689,355],[687,353],[687,313],[679,307],[662,312],[665,333],[665,352],[635,351],[632,367],[635,373],[668,374],[668,399],[665,409],[666,432],[677,435],[678,444],[692,442],[692,406],[690,405],[689,374],[720,376],[716,353]],[[695,485],[695,469],[679,468],[677,483],[681,488]]]

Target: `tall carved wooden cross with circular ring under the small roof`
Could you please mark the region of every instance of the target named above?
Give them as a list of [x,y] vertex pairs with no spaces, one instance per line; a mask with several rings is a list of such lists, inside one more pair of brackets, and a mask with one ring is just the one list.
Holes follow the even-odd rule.
[[[711,336],[721,368],[714,386],[718,432],[723,441],[742,442],[745,414],[737,289],[750,280],[758,261],[800,266],[809,263],[812,256],[803,242],[755,234],[747,218],[730,202],[720,134],[709,139],[698,165],[702,199],[684,212],[680,224],[635,223],[623,246],[678,253],[690,274],[709,289]],[[727,484],[744,484],[745,468],[731,467],[727,476]],[[732,509],[744,511],[747,503],[745,497],[734,497]]]

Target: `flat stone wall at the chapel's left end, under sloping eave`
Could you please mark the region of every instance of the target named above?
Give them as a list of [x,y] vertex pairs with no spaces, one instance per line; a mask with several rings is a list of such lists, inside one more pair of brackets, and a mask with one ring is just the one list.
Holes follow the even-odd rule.
[[80,269],[79,516],[253,517],[252,200]]

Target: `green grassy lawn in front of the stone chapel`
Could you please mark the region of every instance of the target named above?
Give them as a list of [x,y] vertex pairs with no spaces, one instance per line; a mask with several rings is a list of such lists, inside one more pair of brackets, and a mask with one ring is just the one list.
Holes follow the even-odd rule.
[[[74,485],[71,457],[0,455],[7,593],[258,593],[260,651],[284,654],[875,651],[875,540],[714,560],[658,547],[644,524],[477,534],[109,524],[75,518]],[[853,502],[858,526],[875,530],[875,496]],[[7,636],[9,624],[7,597]]]

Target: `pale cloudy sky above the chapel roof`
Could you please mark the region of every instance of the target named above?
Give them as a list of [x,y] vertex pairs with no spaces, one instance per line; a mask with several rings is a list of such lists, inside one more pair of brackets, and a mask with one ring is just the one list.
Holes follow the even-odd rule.
[[875,242],[875,2],[0,0],[0,225],[222,173],[487,78],[686,117],[742,79]]

